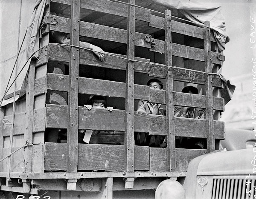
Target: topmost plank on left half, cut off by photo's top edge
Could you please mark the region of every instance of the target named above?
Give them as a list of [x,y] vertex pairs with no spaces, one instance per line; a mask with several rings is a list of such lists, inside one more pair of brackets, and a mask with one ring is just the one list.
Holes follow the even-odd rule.
[[[51,0],[59,3],[59,0]],[[71,0],[61,0],[61,3],[71,5]],[[81,1],[81,8],[89,9],[106,14],[114,14],[121,17],[127,17],[128,6],[122,3],[112,2],[110,0],[86,0]],[[135,8],[135,19],[149,22],[150,11],[141,8]]]

